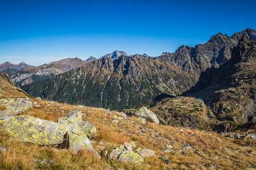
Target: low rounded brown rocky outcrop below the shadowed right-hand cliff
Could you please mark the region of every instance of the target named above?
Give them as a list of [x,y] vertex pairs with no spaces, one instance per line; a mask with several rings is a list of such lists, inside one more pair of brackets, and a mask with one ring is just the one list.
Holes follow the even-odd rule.
[[205,129],[210,128],[210,122],[214,122],[214,117],[207,111],[204,101],[193,97],[162,99],[148,109],[154,112],[163,124],[175,127]]

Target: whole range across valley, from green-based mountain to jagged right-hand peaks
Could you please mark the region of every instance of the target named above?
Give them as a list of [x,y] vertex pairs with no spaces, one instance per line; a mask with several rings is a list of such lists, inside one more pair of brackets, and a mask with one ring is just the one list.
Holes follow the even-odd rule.
[[176,96],[193,87],[202,71],[228,61],[242,36],[255,40],[247,28],[231,37],[218,33],[195,48],[180,46],[160,57],[116,56],[86,63],[83,67],[23,86],[29,94],[44,99],[110,109],[150,105],[163,96]]

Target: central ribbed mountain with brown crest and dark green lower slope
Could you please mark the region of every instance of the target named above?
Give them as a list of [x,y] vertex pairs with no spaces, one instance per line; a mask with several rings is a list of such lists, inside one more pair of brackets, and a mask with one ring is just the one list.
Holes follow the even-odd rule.
[[164,61],[135,55],[105,57],[22,88],[49,100],[123,109],[148,105],[160,94],[180,94],[194,83],[193,76]]

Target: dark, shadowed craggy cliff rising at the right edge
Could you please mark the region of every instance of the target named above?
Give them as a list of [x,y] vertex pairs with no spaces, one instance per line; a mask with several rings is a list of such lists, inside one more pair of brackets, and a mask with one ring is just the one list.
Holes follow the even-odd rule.
[[[232,50],[232,57],[219,68],[207,69],[187,96],[202,97],[224,124],[234,129],[256,120],[256,42],[243,36]],[[228,127],[226,124],[229,124]]]

